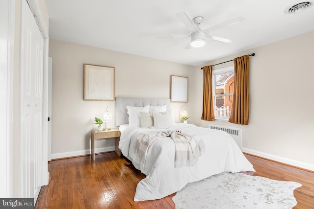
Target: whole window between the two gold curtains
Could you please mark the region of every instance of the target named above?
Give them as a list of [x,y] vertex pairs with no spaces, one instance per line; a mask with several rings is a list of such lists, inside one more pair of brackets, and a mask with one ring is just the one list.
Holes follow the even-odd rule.
[[235,86],[234,75],[234,66],[212,71],[212,95],[216,119],[229,119]]

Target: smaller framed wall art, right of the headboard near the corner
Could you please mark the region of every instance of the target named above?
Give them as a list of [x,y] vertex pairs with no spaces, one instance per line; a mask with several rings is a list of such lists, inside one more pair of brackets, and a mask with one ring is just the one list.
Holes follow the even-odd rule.
[[171,75],[171,102],[187,102],[188,78]]

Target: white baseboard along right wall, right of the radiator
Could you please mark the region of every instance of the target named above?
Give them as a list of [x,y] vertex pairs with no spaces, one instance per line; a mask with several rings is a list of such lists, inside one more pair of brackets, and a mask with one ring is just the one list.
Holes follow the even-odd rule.
[[280,156],[276,156],[276,155],[272,155],[272,154],[256,151],[256,150],[253,150],[253,149],[244,148],[244,147],[242,147],[242,152],[246,152],[248,154],[256,155],[256,156],[259,156],[259,157],[262,157],[262,158],[267,158],[267,159],[270,159],[270,160],[273,160],[273,161],[277,161],[277,162],[280,162],[280,163],[286,163],[286,164],[289,164],[289,165],[293,165],[293,166],[296,166],[296,167],[300,167],[300,168],[304,168],[304,169],[307,169],[307,170],[314,171],[314,165],[313,164],[303,163],[303,162],[300,162],[300,161],[295,161],[295,160],[291,160],[291,159],[288,159],[288,158],[283,158],[283,157],[280,157]]

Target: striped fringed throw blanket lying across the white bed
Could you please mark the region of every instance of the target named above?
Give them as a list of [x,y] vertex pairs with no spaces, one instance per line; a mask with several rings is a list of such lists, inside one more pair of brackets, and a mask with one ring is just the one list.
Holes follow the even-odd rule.
[[175,142],[175,167],[193,166],[205,152],[205,144],[202,139],[197,141],[192,136],[181,132],[163,131],[142,134],[134,147],[134,151],[142,159],[142,165],[145,164],[149,146],[154,143],[157,137],[170,137]]

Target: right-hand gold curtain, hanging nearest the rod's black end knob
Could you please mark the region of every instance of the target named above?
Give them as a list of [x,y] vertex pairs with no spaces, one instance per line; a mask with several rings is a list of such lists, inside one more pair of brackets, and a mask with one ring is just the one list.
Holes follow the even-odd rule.
[[249,124],[249,63],[250,56],[244,55],[234,59],[235,90],[229,122],[241,125]]

